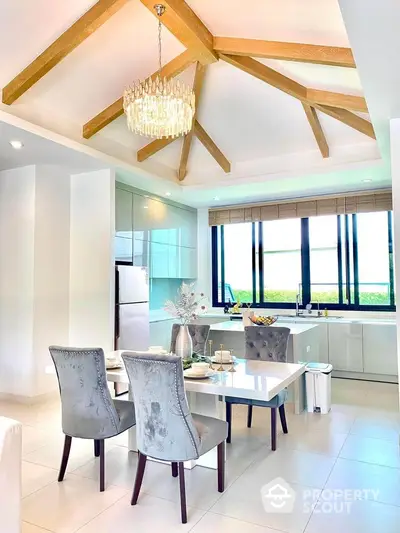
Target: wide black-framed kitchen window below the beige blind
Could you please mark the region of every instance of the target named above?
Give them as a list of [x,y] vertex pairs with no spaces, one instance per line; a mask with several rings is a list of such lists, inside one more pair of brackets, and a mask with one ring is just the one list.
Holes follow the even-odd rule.
[[213,305],[395,308],[392,213],[212,228]]

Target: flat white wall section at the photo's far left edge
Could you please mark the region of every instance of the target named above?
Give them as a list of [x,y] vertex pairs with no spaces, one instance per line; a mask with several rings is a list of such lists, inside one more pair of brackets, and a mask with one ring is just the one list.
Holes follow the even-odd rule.
[[0,392],[34,392],[35,167],[0,172]]

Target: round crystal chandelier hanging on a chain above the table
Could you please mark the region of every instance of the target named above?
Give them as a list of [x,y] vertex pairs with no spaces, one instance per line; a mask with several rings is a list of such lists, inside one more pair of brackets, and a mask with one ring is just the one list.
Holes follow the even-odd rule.
[[124,91],[124,111],[133,133],[161,139],[178,137],[192,129],[193,90],[173,78],[161,77],[161,20],[165,6],[154,6],[158,18],[159,71],[155,79],[139,81]]

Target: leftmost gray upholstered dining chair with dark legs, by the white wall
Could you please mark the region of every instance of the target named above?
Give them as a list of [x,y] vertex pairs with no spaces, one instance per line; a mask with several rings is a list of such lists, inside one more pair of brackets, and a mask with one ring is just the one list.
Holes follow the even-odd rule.
[[135,425],[133,402],[113,400],[107,386],[101,348],[50,346],[61,396],[61,421],[65,434],[58,481],[64,479],[72,438],[92,439],[100,457],[100,491],[105,487],[104,440]]

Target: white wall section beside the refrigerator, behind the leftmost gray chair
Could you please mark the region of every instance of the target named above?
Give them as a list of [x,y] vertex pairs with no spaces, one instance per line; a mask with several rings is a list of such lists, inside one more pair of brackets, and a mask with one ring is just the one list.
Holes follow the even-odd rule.
[[115,174],[71,176],[70,336],[113,349]]

